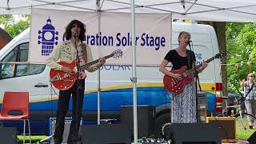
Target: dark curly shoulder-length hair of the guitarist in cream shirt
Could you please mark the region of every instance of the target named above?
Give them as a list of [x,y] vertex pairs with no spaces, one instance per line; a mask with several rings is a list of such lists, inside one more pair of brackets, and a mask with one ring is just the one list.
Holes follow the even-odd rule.
[[86,33],[86,28],[85,28],[86,25],[83,24],[82,22],[76,20],[76,19],[72,20],[72,21],[66,26],[66,32],[65,32],[65,33],[66,33],[66,34],[65,34],[66,40],[69,40],[69,39],[72,37],[71,29],[72,29],[75,25],[77,25],[77,26],[81,29],[80,35],[79,35],[79,39],[80,39],[81,41],[83,41],[83,39],[85,38],[85,33]]

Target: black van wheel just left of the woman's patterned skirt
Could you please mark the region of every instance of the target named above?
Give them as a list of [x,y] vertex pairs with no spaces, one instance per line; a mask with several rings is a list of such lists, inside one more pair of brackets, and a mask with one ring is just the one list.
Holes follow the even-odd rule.
[[163,129],[166,124],[170,124],[170,113],[161,114],[155,120],[154,136],[155,138],[164,138]]

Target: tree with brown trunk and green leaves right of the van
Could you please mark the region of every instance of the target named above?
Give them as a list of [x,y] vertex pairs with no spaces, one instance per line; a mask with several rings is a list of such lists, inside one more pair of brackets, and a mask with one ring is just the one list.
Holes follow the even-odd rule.
[[[227,90],[238,91],[240,81],[256,70],[256,24],[238,22],[202,22],[214,26],[220,51],[226,51],[222,58],[223,94]],[[239,63],[239,64],[236,64]],[[242,64],[240,64],[242,63]]]

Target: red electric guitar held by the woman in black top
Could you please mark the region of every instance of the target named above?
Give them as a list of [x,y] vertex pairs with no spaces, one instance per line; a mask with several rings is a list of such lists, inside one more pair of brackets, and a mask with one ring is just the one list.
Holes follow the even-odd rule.
[[[213,58],[207,59],[206,63],[213,61],[215,58],[222,58],[224,56],[226,56],[226,52],[222,51],[219,54],[216,54]],[[196,66],[195,69],[198,69],[201,66],[202,64]],[[186,83],[193,81],[192,75],[195,73],[195,69],[186,70],[186,66],[182,66],[179,70],[170,70],[171,73],[181,74],[182,78],[178,80],[170,77],[169,75],[165,75],[163,77],[165,89],[170,91],[172,94],[180,94],[184,90]]]

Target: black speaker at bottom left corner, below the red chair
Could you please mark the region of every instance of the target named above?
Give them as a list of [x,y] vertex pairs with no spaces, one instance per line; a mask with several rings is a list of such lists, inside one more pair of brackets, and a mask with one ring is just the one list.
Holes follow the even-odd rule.
[[8,144],[18,144],[16,127],[0,127],[1,142]]

